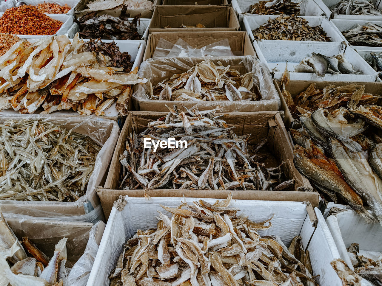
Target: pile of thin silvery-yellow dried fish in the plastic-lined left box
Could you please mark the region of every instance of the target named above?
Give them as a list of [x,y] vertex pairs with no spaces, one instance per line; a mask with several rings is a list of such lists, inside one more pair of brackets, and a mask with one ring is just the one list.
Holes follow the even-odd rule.
[[47,121],[0,125],[0,199],[76,201],[84,195],[101,147]]

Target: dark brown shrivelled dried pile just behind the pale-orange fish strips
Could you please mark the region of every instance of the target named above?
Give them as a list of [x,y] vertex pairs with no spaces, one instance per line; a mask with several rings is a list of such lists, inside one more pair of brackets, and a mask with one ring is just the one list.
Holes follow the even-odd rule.
[[97,54],[101,53],[104,56],[108,56],[111,62],[108,66],[123,67],[123,72],[129,72],[133,67],[129,53],[127,51],[122,53],[114,41],[112,43],[105,43],[100,39],[90,39],[84,43],[83,50],[95,51]]

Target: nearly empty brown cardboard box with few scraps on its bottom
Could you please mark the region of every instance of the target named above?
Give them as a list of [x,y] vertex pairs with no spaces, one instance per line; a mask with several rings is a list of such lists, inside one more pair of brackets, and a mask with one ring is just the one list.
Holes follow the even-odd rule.
[[[203,24],[206,28],[180,28],[182,24],[187,26]],[[167,26],[171,28],[165,29]],[[240,30],[239,20],[232,7],[211,5],[156,6],[149,26],[149,33],[238,30]]]

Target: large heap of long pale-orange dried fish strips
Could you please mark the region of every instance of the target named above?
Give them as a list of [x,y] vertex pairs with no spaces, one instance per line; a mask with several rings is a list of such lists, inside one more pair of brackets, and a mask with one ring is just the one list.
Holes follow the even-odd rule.
[[78,33],[71,43],[65,35],[45,37],[30,44],[22,39],[0,57],[0,110],[51,113],[73,109],[81,115],[104,115],[117,100],[127,113],[131,85],[147,82],[115,60],[89,50]]

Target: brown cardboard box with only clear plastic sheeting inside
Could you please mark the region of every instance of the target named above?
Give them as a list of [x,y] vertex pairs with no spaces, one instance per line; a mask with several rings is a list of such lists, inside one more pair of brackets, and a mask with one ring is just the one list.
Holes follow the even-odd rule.
[[149,38],[147,39],[143,61],[152,58],[161,38],[173,44],[179,39],[182,39],[191,47],[198,49],[219,42],[220,40],[228,39],[231,51],[235,56],[257,56],[246,32],[153,32],[149,34]]

